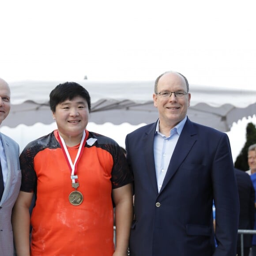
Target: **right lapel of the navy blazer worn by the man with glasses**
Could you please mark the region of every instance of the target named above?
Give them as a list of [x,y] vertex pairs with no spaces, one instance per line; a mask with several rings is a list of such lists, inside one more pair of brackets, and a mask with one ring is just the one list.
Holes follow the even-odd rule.
[[162,190],[166,187],[170,179],[177,172],[179,166],[184,161],[188,152],[191,150],[192,146],[196,142],[196,138],[194,135],[196,135],[196,131],[193,127],[193,124],[189,119],[187,119],[184,128],[181,132],[181,135],[177,141],[176,147],[173,151],[173,155],[169,163],[166,177],[163,181],[162,188],[159,193],[162,192]]

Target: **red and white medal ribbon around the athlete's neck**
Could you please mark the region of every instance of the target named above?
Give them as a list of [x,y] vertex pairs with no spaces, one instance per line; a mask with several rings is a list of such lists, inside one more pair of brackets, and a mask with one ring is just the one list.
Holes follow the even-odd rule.
[[78,184],[78,176],[77,176],[77,163],[79,162],[79,159],[81,158],[82,154],[83,154],[83,150],[84,150],[84,145],[86,143],[86,140],[89,136],[89,132],[87,130],[83,131],[83,137],[82,137],[82,140],[80,142],[80,146],[79,146],[79,149],[78,149],[78,152],[76,154],[76,158],[75,158],[75,162],[72,163],[72,160],[70,158],[70,154],[68,153],[68,148],[64,142],[64,139],[60,136],[60,133],[57,132],[58,134],[58,139],[59,139],[59,142],[60,142],[60,147],[63,151],[63,154],[65,156],[65,159],[68,163],[68,167],[70,169],[70,172],[71,172],[71,179],[72,179],[72,184],[74,183],[77,183]]

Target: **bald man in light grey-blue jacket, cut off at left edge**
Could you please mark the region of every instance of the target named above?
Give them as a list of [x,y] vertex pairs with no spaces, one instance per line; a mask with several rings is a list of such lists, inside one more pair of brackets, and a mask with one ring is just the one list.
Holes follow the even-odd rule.
[[[0,124],[9,114],[10,98],[10,87],[0,78]],[[14,255],[11,211],[20,184],[19,145],[0,133],[0,256]]]

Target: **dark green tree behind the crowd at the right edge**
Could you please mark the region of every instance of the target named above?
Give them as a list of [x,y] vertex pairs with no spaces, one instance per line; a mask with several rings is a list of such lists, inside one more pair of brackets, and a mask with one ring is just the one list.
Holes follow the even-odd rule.
[[[239,139],[239,138],[237,138]],[[252,144],[256,143],[256,127],[252,123],[248,123],[246,127],[246,142],[245,146],[242,148],[240,154],[237,156],[235,167],[237,169],[247,171],[249,169],[248,166],[248,147]]]

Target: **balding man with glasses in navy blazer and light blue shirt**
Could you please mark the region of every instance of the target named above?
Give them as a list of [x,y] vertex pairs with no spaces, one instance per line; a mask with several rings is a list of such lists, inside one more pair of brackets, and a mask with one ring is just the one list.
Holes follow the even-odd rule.
[[239,198],[229,139],[188,119],[190,98],[184,75],[163,73],[153,94],[159,119],[126,137],[135,194],[131,256],[236,255]]

